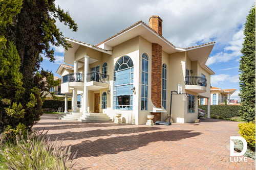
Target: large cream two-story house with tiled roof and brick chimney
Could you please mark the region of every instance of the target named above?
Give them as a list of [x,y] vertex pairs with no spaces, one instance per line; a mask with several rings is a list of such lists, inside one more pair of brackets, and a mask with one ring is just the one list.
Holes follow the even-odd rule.
[[65,50],[65,63],[74,67],[61,64],[56,72],[66,101],[72,94],[73,113],[106,113],[112,119],[122,113],[123,123],[136,125],[145,124],[147,114],[164,120],[170,93],[179,86],[189,95],[185,101],[183,94],[173,95],[172,118],[188,123],[198,117],[197,99],[210,98],[210,75],[215,73],[205,63],[215,42],[176,47],[162,37],[159,16],[151,16],[149,26],[136,22],[97,45],[66,40],[72,48]]

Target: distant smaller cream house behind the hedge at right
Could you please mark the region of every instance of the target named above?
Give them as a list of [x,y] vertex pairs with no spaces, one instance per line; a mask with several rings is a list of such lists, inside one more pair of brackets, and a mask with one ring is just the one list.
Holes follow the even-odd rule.
[[[225,105],[225,99],[227,105],[237,104],[237,100],[230,100],[230,95],[233,94],[237,89],[221,89],[218,87],[210,87],[210,105]],[[200,99],[200,105],[206,105],[207,99]]]

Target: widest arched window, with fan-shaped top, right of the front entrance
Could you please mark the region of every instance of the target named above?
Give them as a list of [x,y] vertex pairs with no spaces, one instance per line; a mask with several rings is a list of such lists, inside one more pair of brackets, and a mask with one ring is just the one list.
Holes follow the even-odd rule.
[[113,109],[133,110],[133,61],[121,57],[114,69]]

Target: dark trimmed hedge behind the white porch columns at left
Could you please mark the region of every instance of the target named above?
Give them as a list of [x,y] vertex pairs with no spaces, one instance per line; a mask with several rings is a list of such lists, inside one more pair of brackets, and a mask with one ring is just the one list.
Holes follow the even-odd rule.
[[[72,101],[68,101],[68,109],[72,107]],[[65,101],[63,100],[45,100],[44,104],[42,105],[42,109],[52,108],[54,110],[58,110],[59,107],[62,107],[62,110],[65,109]]]

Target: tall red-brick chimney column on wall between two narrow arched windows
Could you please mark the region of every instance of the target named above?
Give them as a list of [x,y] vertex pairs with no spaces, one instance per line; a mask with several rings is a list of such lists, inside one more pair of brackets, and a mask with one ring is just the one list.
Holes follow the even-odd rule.
[[162,46],[152,44],[151,100],[155,107],[161,108],[162,91]]

